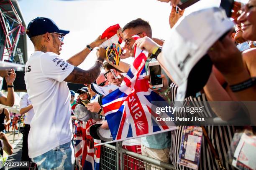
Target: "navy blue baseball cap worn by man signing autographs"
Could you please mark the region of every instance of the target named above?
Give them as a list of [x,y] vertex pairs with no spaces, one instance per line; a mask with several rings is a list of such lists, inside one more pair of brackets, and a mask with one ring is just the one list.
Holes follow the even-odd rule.
[[34,37],[36,35],[42,35],[46,32],[56,32],[59,34],[68,34],[67,30],[60,30],[59,27],[49,18],[37,17],[28,23],[27,27],[28,37]]

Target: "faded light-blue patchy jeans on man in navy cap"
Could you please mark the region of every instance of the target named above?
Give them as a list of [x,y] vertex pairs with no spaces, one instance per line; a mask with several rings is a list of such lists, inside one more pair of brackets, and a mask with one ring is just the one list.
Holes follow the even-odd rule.
[[74,170],[74,146],[65,143],[31,160],[38,170]]

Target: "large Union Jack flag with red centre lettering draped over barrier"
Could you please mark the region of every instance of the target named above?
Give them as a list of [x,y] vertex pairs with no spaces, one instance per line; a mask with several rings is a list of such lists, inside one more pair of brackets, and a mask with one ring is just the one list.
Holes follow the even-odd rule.
[[[139,37],[133,38],[137,40]],[[164,121],[156,121],[159,115],[152,110],[151,102],[164,99],[149,88],[148,80],[143,79],[147,56],[146,50],[135,47],[135,60],[125,75],[125,84],[103,97],[102,106],[113,142],[177,129]],[[166,116],[172,116],[172,113]]]

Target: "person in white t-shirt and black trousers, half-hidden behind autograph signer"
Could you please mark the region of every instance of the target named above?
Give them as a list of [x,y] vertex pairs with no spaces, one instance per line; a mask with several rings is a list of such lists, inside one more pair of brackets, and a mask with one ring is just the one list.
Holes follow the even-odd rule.
[[[29,161],[31,159],[28,156],[28,133],[30,130],[30,122],[34,116],[34,109],[32,102],[28,99],[28,93],[23,95],[20,99],[20,115],[25,114],[24,119],[24,130],[23,130],[23,138],[22,138],[22,154],[20,161]],[[22,168],[20,168],[22,169]]]

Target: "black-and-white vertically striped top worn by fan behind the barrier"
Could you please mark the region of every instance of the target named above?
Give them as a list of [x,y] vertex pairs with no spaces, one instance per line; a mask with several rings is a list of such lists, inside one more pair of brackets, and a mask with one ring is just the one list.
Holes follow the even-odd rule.
[[[171,100],[174,101],[177,94],[177,85],[172,83],[170,85],[171,88]],[[209,105],[204,103],[207,101],[205,94],[200,95],[199,97],[187,97],[185,100],[187,101],[202,101],[199,102],[200,106],[203,107],[202,117],[215,117],[215,113],[210,109]],[[179,126],[178,130],[171,131],[171,148],[169,158],[174,167],[178,170],[190,170],[190,168],[184,167],[182,165],[177,164],[177,160],[179,158],[179,150],[182,143],[182,135],[185,126]],[[207,134],[214,146],[218,156],[220,157],[223,166],[227,169],[235,169],[231,165],[228,164],[227,152],[232,141],[233,135],[235,133],[234,126],[205,126]],[[207,140],[202,138],[201,145],[201,155],[200,155],[200,164],[199,170],[219,170],[218,163],[215,161],[215,157],[210,150],[210,146],[207,143]],[[192,170],[192,169],[191,169]]]

